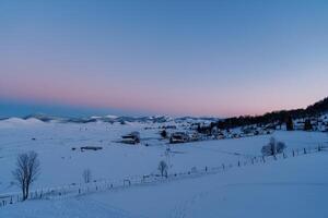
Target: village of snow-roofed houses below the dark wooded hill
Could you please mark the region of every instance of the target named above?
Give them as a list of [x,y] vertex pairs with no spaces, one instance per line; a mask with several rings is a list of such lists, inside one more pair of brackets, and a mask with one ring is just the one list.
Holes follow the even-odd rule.
[[[150,129],[152,128],[144,128],[144,130]],[[245,125],[227,130],[220,130],[213,124],[213,122],[187,122],[184,124],[177,122],[168,125],[160,125],[157,129],[159,135],[161,136],[159,140],[165,141],[167,144],[242,138],[258,135],[270,135],[276,130],[288,131],[286,124],[279,122]],[[290,131],[328,132],[328,117],[320,116],[292,120],[292,130]],[[142,142],[142,137],[140,132],[133,131],[122,135],[121,140],[117,142],[138,145]],[[145,145],[148,146],[147,143]]]

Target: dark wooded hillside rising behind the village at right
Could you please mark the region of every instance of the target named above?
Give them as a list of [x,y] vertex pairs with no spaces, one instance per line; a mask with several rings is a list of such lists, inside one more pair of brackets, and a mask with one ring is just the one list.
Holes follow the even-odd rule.
[[232,128],[253,125],[253,124],[258,124],[258,125],[266,125],[271,123],[282,124],[282,123],[290,122],[292,119],[317,117],[327,111],[328,111],[328,97],[312,106],[308,106],[306,109],[273,111],[273,112],[268,112],[263,116],[241,116],[241,117],[227,118],[211,123],[209,128],[212,129],[216,126],[221,130],[227,130]]

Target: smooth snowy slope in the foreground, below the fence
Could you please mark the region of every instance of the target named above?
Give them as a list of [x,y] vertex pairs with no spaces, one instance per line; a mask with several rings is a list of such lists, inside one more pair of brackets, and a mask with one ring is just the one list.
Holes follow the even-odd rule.
[[31,201],[0,208],[0,217],[325,218],[327,166],[328,154],[316,153],[172,183]]

